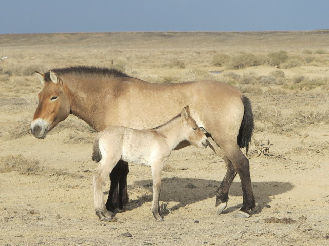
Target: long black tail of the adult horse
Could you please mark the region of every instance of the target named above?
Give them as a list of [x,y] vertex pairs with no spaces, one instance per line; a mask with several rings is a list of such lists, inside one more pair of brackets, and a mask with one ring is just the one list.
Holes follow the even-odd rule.
[[241,100],[245,107],[245,112],[239,129],[239,135],[237,135],[237,144],[240,148],[246,147],[246,153],[248,153],[254,129],[254,120],[250,100],[245,95],[241,96]]

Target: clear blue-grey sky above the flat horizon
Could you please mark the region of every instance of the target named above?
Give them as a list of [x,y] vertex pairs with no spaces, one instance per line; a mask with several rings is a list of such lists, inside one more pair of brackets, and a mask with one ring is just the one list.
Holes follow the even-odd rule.
[[0,0],[0,34],[329,29],[329,0]]

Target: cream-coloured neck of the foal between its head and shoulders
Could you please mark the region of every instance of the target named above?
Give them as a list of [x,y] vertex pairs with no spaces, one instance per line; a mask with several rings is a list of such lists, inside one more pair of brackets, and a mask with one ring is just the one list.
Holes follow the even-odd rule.
[[185,140],[184,136],[182,136],[183,126],[181,120],[182,119],[179,117],[157,129],[163,136],[166,137],[167,144],[171,150],[176,148],[181,141]]

